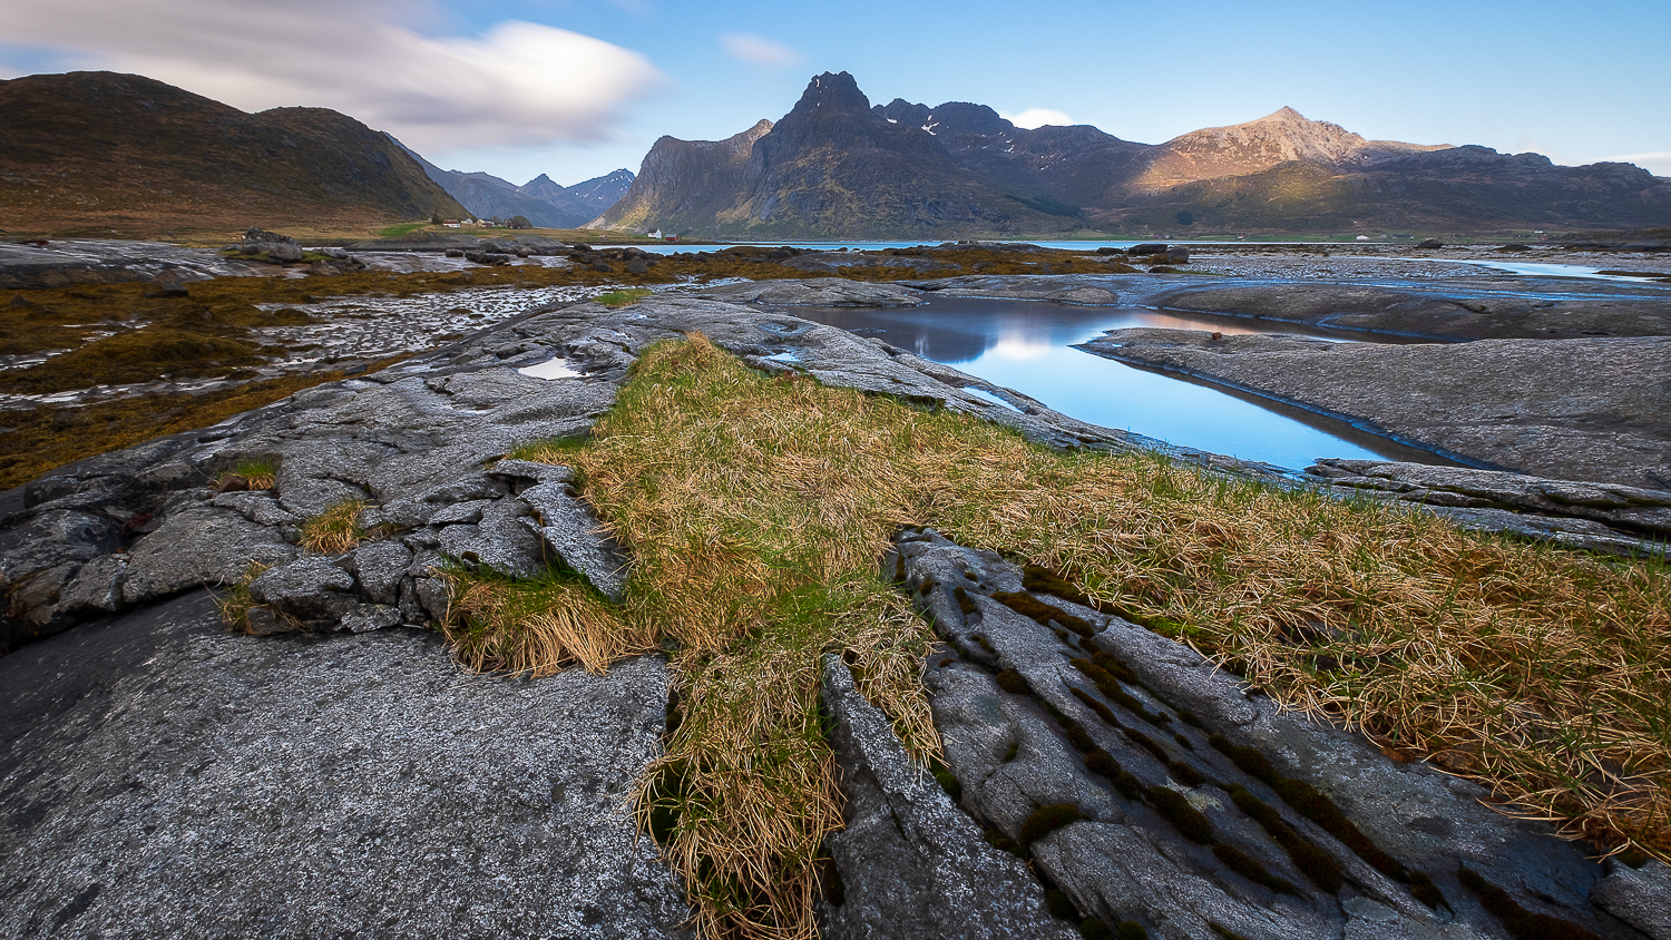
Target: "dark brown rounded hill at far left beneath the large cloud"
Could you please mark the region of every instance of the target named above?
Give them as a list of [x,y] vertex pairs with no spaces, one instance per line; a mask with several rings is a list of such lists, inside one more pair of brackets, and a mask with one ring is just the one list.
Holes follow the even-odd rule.
[[142,75],[0,80],[0,217],[13,232],[331,229],[463,207],[364,124],[246,114]]

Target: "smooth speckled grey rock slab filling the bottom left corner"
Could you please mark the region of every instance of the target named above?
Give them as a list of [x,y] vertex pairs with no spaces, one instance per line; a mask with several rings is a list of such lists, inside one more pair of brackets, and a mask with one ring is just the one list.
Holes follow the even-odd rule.
[[227,634],[201,591],[33,644],[0,660],[0,935],[688,938],[625,801],[667,683]]

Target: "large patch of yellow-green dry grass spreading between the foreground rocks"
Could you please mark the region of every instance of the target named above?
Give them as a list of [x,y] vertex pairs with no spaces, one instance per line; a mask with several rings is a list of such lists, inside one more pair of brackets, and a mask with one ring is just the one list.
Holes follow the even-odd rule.
[[[677,728],[638,811],[705,937],[815,935],[814,862],[841,820],[822,653],[856,665],[919,756],[937,748],[917,683],[931,634],[876,571],[902,524],[1061,571],[1290,706],[1432,756],[1604,847],[1671,857],[1664,566],[1153,454],[1049,452],[968,417],[750,372],[700,336],[652,347],[633,377],[592,442],[550,454],[582,473],[637,556],[627,601],[573,591],[541,609],[603,636],[597,668],[655,639],[680,648]],[[468,589],[455,581],[460,609]],[[556,653],[533,619],[483,614],[498,633],[460,639],[480,649],[466,661],[582,660],[578,641]]]

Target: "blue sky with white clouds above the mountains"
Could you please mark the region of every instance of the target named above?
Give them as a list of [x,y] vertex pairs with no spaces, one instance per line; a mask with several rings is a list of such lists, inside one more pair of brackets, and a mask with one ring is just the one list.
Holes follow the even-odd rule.
[[812,75],[1161,144],[1293,107],[1671,177],[1671,0],[0,0],[0,78],[137,72],[353,115],[515,184],[777,120]]

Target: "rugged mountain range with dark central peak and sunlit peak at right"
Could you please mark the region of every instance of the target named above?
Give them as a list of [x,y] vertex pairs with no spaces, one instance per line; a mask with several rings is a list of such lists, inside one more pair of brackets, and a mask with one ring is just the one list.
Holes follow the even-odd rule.
[[1165,144],[1089,125],[1019,129],[986,105],[812,78],[775,125],[663,137],[593,225],[719,237],[949,239],[1123,234],[1649,227],[1671,180],[1628,164],[1367,140],[1293,109]]

